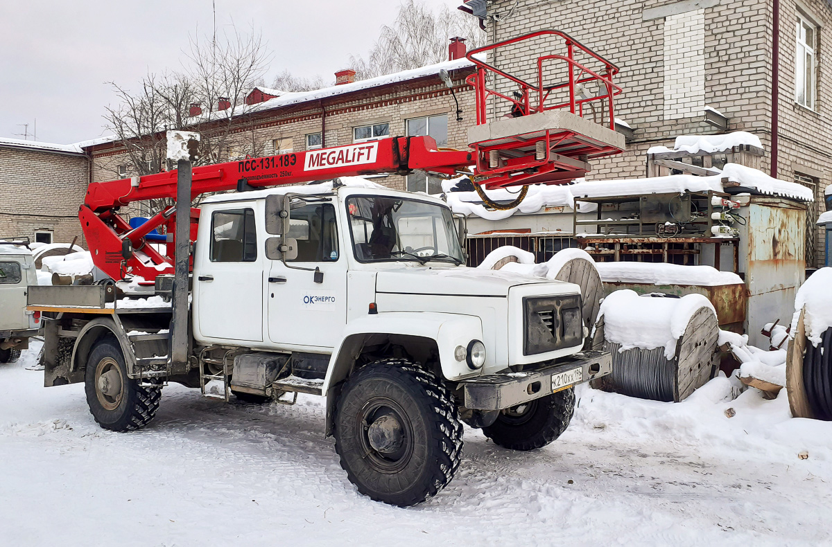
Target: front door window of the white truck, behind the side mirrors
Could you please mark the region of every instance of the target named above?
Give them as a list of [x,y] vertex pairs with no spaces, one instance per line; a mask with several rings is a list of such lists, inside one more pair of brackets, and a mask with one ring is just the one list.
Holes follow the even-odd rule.
[[292,209],[288,237],[298,241],[295,262],[338,260],[338,226],[332,204],[310,204]]

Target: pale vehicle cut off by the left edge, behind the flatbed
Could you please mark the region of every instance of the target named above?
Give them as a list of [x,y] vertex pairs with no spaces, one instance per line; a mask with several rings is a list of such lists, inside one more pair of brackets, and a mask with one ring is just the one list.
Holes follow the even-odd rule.
[[0,363],[17,361],[41,326],[41,313],[26,309],[30,285],[37,271],[29,239],[0,239]]

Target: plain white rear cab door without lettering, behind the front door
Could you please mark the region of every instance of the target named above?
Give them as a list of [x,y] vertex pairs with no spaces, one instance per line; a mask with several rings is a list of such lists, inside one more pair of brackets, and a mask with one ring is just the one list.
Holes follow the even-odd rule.
[[210,211],[208,249],[196,256],[194,317],[201,338],[262,342],[265,254],[257,242],[255,209],[229,204]]

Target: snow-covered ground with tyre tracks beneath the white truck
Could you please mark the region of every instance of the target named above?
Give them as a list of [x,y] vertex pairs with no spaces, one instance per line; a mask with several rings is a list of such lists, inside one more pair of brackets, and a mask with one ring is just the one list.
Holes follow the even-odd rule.
[[398,509],[349,484],[313,397],[171,386],[151,426],[112,433],[82,385],[43,388],[33,361],[0,365],[2,545],[832,543],[832,423],[790,419],[785,390],[730,401],[717,378],[677,405],[583,390],[559,441],[513,453],[467,430],[451,485]]

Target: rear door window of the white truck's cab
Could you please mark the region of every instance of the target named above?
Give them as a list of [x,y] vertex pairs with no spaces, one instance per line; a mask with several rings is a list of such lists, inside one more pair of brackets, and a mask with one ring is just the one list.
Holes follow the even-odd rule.
[[211,262],[255,262],[257,229],[254,209],[216,211],[211,215]]

